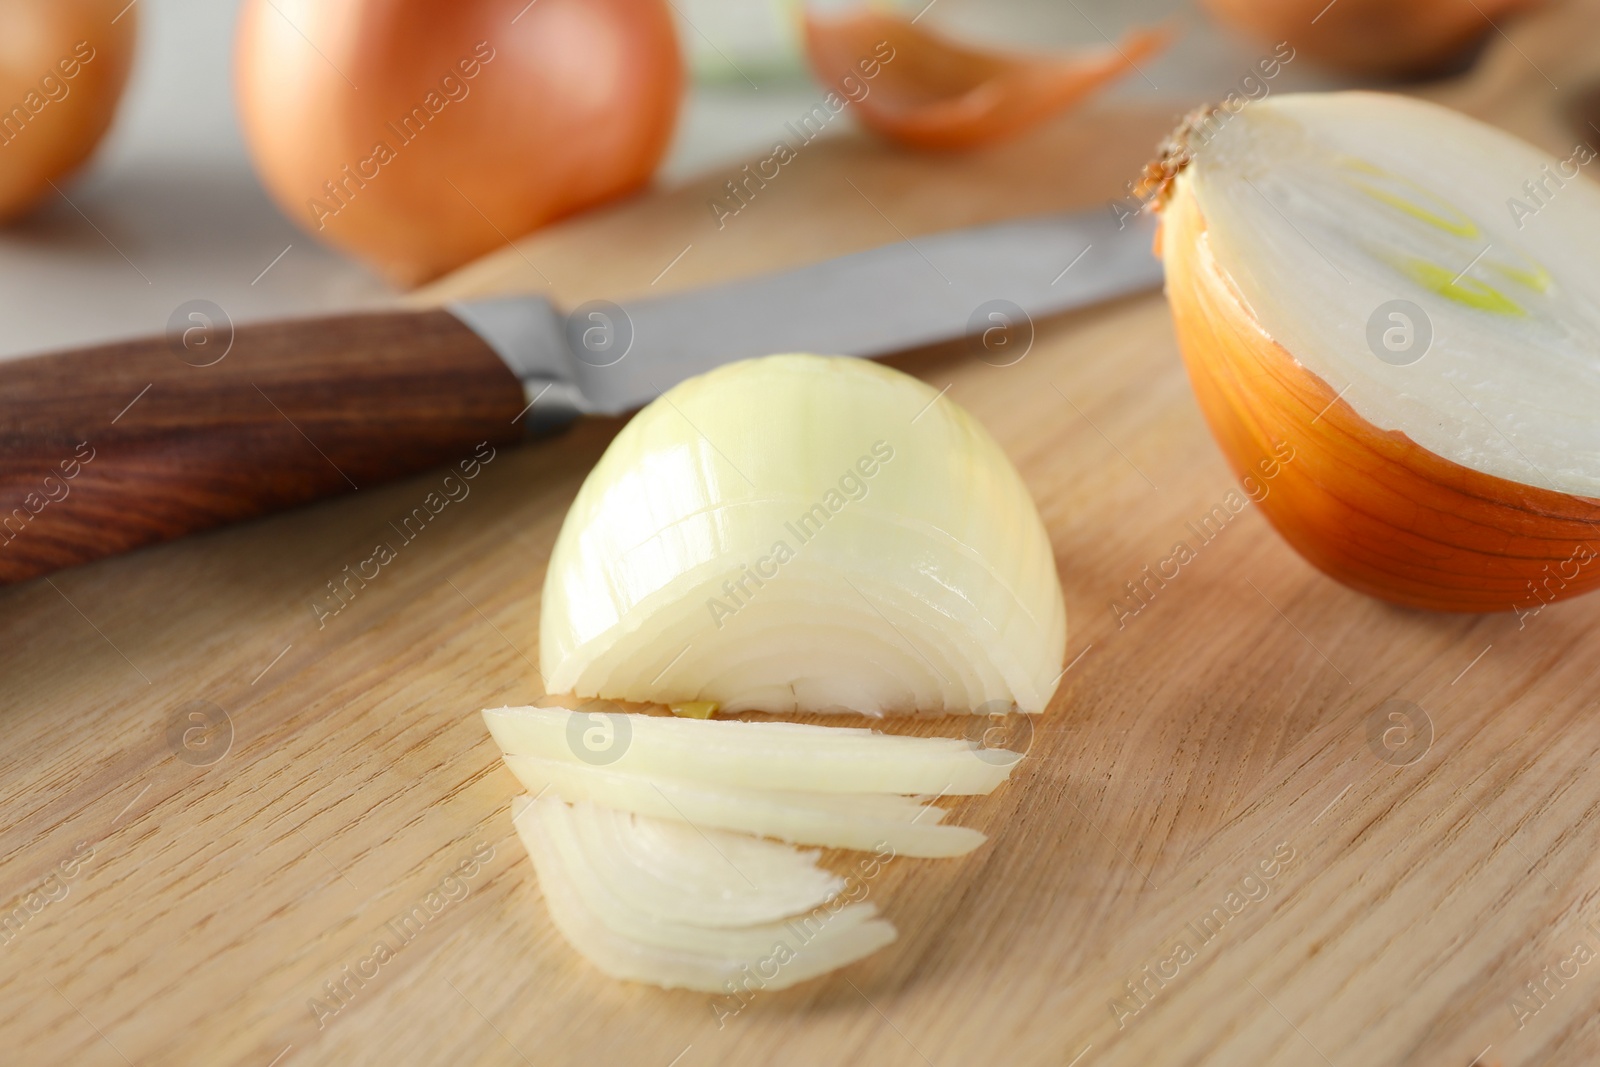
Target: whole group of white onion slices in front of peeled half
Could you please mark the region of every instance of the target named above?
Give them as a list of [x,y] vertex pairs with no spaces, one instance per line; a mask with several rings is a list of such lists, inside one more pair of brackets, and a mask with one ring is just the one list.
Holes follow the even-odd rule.
[[[962,741],[797,723],[554,705],[483,717],[534,793],[514,805],[514,819],[566,941],[613,977],[706,992],[726,992],[752,969],[762,989],[782,989],[894,939],[862,902],[867,886],[763,838],[882,861],[960,856],[984,835],[941,825],[941,808],[899,790],[987,793],[1021,760]],[[584,744],[589,729],[608,744]]]

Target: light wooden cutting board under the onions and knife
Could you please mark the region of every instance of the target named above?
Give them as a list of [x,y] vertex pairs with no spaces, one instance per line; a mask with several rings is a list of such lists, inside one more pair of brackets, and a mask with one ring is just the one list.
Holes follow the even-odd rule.
[[[1558,106],[1594,72],[1562,54],[1592,19],[1514,27],[1430,91],[1565,155]],[[421,299],[626,298],[1096,206],[1171,120],[1088,110],[957,158],[818,142],[720,229],[734,168]],[[1197,536],[1235,483],[1157,294],[1040,322],[1013,366],[898,365],[1037,496],[1072,667],[1013,781],[950,805],[989,843],[870,881],[896,944],[731,1013],[605,979],[550,926],[477,710],[539,693],[547,553],[618,427],[590,421],[494,454],[320,625],[325,584],[442,472],[0,590],[0,1059],[1595,1062],[1600,600],[1402,611],[1253,507]],[[1114,609],[1179,539],[1179,577]],[[174,741],[208,715],[210,747]]]

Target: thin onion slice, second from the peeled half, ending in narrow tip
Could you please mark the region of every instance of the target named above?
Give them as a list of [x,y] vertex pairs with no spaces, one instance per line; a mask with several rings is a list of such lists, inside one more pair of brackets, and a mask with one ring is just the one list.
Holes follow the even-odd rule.
[[941,857],[965,856],[986,840],[970,827],[939,825],[942,808],[904,797],[702,785],[528,755],[507,755],[506,766],[533,793],[549,789],[570,801],[589,800],[618,811],[792,845],[861,851],[886,845],[899,856]]

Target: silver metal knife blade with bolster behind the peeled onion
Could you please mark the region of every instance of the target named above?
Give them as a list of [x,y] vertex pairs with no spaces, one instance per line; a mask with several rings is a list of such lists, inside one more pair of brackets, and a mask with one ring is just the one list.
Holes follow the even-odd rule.
[[[1155,222],[1109,211],[949,230],[688,293],[560,315],[526,296],[466,301],[525,382],[534,427],[622,414],[714,366],[773,352],[875,357],[1152,288]],[[538,398],[538,400],[534,400]]]

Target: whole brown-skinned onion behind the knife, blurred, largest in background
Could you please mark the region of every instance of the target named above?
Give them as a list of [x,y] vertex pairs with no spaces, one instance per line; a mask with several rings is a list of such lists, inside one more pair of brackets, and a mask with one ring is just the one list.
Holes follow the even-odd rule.
[[246,0],[237,48],[274,200],[400,283],[643,186],[683,80],[664,0]]

